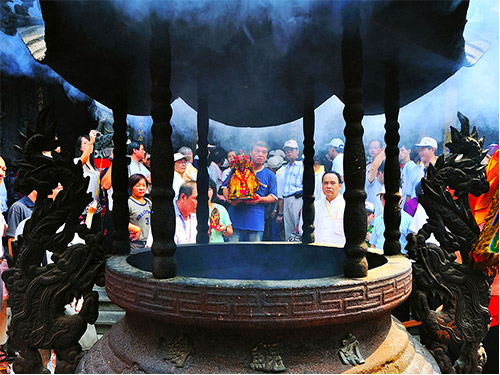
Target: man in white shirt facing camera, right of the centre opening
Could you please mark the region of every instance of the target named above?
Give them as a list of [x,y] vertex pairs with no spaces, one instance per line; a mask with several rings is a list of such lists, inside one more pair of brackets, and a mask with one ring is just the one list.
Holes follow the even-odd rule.
[[337,172],[325,172],[321,186],[325,197],[314,202],[316,243],[344,246],[345,200],[340,194],[342,180]]

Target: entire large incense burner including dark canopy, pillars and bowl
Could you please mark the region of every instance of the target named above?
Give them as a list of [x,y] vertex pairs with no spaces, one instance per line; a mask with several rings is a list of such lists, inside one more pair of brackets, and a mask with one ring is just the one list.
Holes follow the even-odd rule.
[[[412,288],[412,265],[399,242],[398,113],[463,66],[468,2],[283,2],[293,3],[288,14],[273,8],[279,2],[255,2],[265,5],[259,7],[250,1],[257,13],[248,17],[240,14],[245,1],[220,2],[236,4],[225,13],[210,1],[200,2],[196,12],[179,13],[176,6],[183,3],[190,2],[153,1],[167,4],[167,11],[151,8],[135,22],[118,10],[118,1],[41,1],[44,62],[111,106],[114,117],[114,256],[106,265],[106,290],[127,313],[77,370],[439,371],[391,317]],[[201,20],[200,12],[212,22]],[[273,12],[296,22],[285,27],[285,43],[273,34],[279,26]],[[233,14],[236,24],[222,22]],[[344,248],[314,244],[314,110],[333,94],[345,103]],[[170,105],[177,97],[197,110],[199,146],[197,244],[179,247],[170,139]],[[365,244],[365,109],[383,110],[386,117],[383,255],[368,252]],[[154,242],[150,251],[135,255],[129,255],[127,230],[130,113],[151,114],[154,121]],[[209,244],[209,119],[258,127],[298,118],[305,155],[302,243]],[[97,306],[89,312],[97,314]],[[24,333],[31,334],[21,330],[19,337]],[[80,359],[74,344],[62,367],[67,371]],[[35,353],[26,360],[30,366],[39,362],[37,349],[30,344],[25,350]]]

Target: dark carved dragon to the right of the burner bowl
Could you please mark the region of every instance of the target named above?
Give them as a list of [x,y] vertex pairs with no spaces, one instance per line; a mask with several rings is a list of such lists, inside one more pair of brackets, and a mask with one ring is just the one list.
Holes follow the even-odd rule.
[[[481,341],[489,330],[488,303],[495,270],[474,269],[469,256],[480,230],[472,215],[468,196],[489,189],[481,165],[487,151],[476,128],[470,133],[469,120],[458,112],[461,131],[451,128],[448,155],[430,165],[422,179],[419,203],[429,216],[417,235],[408,235],[406,249],[413,263],[413,292],[410,306],[422,322],[423,344],[432,352],[443,373],[481,373],[486,353]],[[426,242],[431,234],[440,246]],[[459,251],[462,264],[456,262]],[[442,304],[433,310],[430,298]],[[450,344],[461,344],[458,359],[452,362]]]

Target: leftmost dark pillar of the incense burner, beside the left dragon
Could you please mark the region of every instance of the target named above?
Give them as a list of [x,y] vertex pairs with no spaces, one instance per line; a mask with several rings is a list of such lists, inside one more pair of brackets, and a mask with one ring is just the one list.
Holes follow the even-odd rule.
[[120,68],[120,62],[115,62],[114,93],[113,93],[113,245],[114,255],[130,253],[128,233],[128,172],[127,172],[127,85]]

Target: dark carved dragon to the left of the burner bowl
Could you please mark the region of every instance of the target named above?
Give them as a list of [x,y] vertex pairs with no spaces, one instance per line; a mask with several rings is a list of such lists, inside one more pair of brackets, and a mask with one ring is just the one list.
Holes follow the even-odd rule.
[[[102,235],[90,234],[80,224],[92,199],[86,193],[88,179],[68,152],[55,152],[60,142],[55,124],[47,124],[47,118],[48,110],[40,112],[35,129],[20,134],[21,146],[16,146],[21,156],[16,188],[23,194],[38,192],[31,219],[13,243],[10,268],[2,275],[12,309],[9,336],[20,353],[13,364],[16,373],[48,371],[38,349],[54,349],[59,359],[56,373],[74,372],[82,355],[78,341],[98,315],[98,294],[92,288],[104,285]],[[43,151],[51,151],[51,156]],[[58,183],[63,190],[53,201],[47,196]],[[75,233],[85,244],[68,246]],[[41,266],[46,250],[53,252],[53,263]],[[65,315],[65,305],[81,296],[80,313]]]

